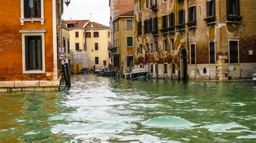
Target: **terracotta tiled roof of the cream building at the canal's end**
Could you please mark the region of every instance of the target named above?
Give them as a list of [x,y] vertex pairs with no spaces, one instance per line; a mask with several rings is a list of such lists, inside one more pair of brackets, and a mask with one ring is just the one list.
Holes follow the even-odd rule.
[[[90,20],[62,20],[62,26],[66,27],[66,24],[74,24],[74,27],[68,28],[109,28],[109,26],[105,26],[103,24],[99,24],[96,22],[90,22]],[[93,27],[91,27],[93,25]]]

